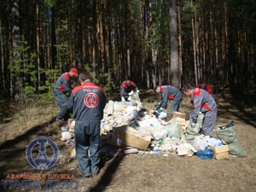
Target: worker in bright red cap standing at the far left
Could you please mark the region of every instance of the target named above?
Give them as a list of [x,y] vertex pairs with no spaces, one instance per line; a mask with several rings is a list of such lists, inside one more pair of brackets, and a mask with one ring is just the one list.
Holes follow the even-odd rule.
[[68,119],[68,110],[67,110],[67,97],[66,94],[68,93],[68,96],[71,93],[71,87],[70,87],[70,79],[73,77],[78,77],[78,70],[76,68],[71,68],[69,72],[61,74],[59,79],[55,83],[54,87],[54,95],[55,100],[57,101],[60,112],[58,113],[56,117],[56,121],[60,121],[62,119],[67,120]]

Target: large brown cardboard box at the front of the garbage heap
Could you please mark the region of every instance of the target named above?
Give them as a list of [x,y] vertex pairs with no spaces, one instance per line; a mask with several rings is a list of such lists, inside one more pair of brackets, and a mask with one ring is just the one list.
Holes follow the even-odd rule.
[[140,150],[146,150],[151,141],[151,137],[143,136],[130,126],[123,125],[114,128],[114,134],[110,143],[121,148],[133,147]]

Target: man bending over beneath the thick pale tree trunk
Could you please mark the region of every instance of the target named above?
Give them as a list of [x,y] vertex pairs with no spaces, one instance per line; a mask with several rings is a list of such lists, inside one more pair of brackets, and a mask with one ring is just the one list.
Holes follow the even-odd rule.
[[154,108],[154,115],[158,117],[159,114],[167,107],[168,100],[172,100],[170,112],[167,113],[168,119],[171,119],[173,112],[178,110],[179,104],[183,99],[182,92],[171,85],[155,86],[154,92],[161,94],[161,100]]

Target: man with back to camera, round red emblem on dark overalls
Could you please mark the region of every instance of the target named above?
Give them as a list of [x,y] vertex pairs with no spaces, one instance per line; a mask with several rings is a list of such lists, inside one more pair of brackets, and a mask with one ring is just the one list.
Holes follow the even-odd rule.
[[90,81],[89,73],[81,73],[79,81],[81,85],[73,89],[67,108],[73,108],[79,170],[84,177],[96,177],[100,163],[101,120],[107,101],[104,90]]

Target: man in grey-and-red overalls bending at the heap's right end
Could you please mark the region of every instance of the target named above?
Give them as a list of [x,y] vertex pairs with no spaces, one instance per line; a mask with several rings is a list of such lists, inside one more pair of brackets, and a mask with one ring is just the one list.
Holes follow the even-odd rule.
[[199,113],[204,113],[201,134],[212,137],[217,118],[217,104],[212,95],[207,90],[189,86],[184,86],[182,90],[185,96],[191,97],[191,103],[194,105],[194,110],[189,113],[189,117],[195,122]]

